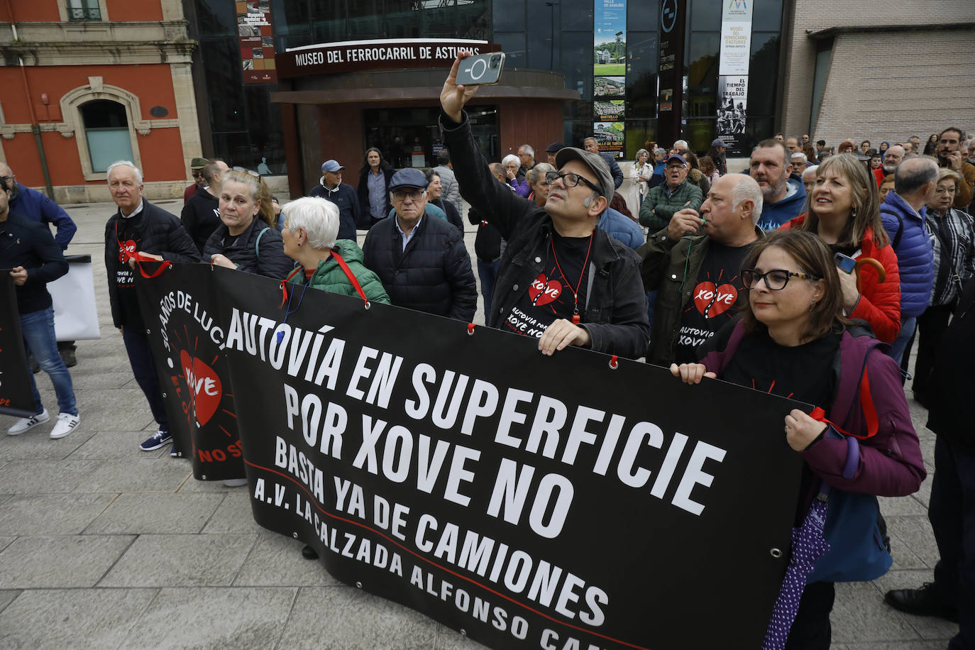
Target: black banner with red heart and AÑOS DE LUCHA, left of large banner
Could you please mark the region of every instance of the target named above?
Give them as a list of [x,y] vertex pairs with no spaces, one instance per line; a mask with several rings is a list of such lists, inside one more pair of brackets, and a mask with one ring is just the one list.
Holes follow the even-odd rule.
[[176,449],[191,457],[194,478],[244,478],[210,266],[176,264],[152,279],[137,273],[136,287]]

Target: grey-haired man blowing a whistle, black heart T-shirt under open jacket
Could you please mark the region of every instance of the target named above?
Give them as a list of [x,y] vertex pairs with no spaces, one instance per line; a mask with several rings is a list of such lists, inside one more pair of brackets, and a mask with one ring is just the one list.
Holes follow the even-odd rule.
[[637,252],[643,287],[658,290],[649,363],[693,363],[699,347],[747,300],[741,263],[761,237],[759,183],[743,173],[723,175],[701,210],[680,210]]

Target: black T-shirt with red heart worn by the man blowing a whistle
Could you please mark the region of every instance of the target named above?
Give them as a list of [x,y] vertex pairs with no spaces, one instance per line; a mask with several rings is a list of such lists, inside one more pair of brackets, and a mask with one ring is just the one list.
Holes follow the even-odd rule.
[[[694,280],[690,302],[684,307],[674,346],[674,361],[700,361],[699,348],[728,322],[748,299],[741,284],[741,263],[752,244],[731,248],[710,242]],[[691,282],[688,280],[687,282]]]

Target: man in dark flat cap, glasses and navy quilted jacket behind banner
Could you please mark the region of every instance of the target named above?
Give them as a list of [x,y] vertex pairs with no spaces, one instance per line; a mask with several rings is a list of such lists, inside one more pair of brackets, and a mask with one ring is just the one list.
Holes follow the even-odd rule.
[[396,215],[376,221],[363,243],[363,262],[398,307],[474,320],[478,290],[463,233],[426,211],[427,180],[405,169],[389,179]]

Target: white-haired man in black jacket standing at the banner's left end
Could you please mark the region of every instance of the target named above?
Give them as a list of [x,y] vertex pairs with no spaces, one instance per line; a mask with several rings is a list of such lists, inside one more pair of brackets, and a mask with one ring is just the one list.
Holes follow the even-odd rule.
[[[142,172],[129,161],[108,166],[108,191],[118,210],[105,224],[105,271],[112,322],[122,332],[138,387],[142,389],[159,429],[142,442],[152,451],[173,440],[166,405],[152,361],[145,323],[138,311],[136,265],[140,261],[199,262],[200,251],[175,214],[142,198]],[[171,455],[178,455],[176,446]]]

